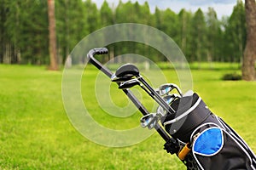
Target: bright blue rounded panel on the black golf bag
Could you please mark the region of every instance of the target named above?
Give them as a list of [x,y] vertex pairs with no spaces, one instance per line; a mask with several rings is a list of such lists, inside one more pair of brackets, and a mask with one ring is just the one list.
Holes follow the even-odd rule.
[[207,129],[195,139],[194,151],[201,155],[211,156],[218,153],[223,146],[223,135],[219,128]]

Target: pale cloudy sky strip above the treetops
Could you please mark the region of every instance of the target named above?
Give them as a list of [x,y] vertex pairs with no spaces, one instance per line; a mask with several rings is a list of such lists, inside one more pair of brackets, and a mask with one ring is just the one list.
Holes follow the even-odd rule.
[[[119,0],[106,0],[109,6],[117,6]],[[121,0],[123,3],[128,2],[128,0]],[[171,8],[174,12],[178,13],[182,8],[191,10],[195,12],[198,8],[201,8],[202,11],[207,12],[208,7],[215,9],[218,18],[222,16],[230,16],[232,13],[233,7],[236,5],[236,0],[130,0],[132,3],[136,1],[140,4],[143,4],[145,1],[148,1],[149,8],[152,13],[154,13],[154,8],[157,6],[160,9]],[[104,0],[92,0],[92,2],[97,4],[97,7],[100,8]]]

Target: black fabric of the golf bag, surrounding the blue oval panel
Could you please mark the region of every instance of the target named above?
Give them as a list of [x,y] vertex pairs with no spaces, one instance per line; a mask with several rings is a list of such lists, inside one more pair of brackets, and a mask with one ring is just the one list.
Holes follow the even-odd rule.
[[[172,103],[172,108],[177,111],[177,116],[180,116],[189,108],[193,107],[198,101],[199,96],[193,94],[193,96],[183,97],[177,99]],[[162,124],[175,118],[174,116],[165,116],[161,119]],[[182,123],[180,123],[182,122]],[[178,127],[176,123],[180,123],[180,127],[176,132],[173,131],[174,127]],[[215,125],[214,125],[215,124]],[[201,100],[199,105],[195,107],[188,116],[183,117],[178,122],[170,125],[166,125],[166,132],[170,133],[174,139],[182,141],[184,144],[192,143],[190,139],[193,139],[196,133],[201,133],[208,127],[220,127],[224,134],[224,147],[215,156],[201,156],[198,154],[192,154],[186,156],[183,161],[188,170],[194,170],[195,168],[201,169],[198,160],[205,170],[241,170],[241,169],[253,169],[251,167],[250,159],[256,160],[255,155],[249,149],[249,146],[241,139],[237,133],[228,126],[218,116],[215,116],[207,107],[207,105]],[[198,128],[200,127],[200,128]],[[195,129],[196,132],[195,132]],[[227,133],[225,133],[227,132]],[[214,138],[214,137],[212,137]],[[240,140],[240,141],[239,141]],[[195,166],[197,164],[197,166]],[[255,164],[255,163],[254,163]],[[256,165],[254,165],[256,168]]]

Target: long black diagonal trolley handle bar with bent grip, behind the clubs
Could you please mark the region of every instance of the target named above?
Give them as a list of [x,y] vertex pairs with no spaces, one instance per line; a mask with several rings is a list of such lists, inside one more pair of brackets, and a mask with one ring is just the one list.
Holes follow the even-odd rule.
[[[105,75],[108,77],[112,77],[113,73],[112,71],[109,71],[107,67],[104,67],[102,63],[100,63],[97,59],[94,58],[94,55],[96,54],[108,54],[107,48],[94,48],[89,51],[87,54],[87,58],[89,59],[89,62],[96,66],[96,68],[100,71],[102,71]],[[145,116],[148,115],[148,110],[143,106],[143,104],[135,97],[134,94],[131,93],[129,89],[123,89],[123,92],[128,96],[129,99],[131,99],[132,103],[136,105],[137,109],[141,111],[141,113]],[[160,134],[160,136],[165,140],[168,141],[171,139],[170,135],[166,133],[163,127],[160,126],[159,123],[156,124],[154,127],[155,130]]]

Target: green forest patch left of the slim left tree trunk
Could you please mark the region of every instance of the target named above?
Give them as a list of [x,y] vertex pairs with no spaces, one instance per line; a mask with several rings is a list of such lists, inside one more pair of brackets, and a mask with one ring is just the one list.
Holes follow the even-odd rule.
[[48,64],[47,2],[5,0],[1,8],[3,62]]

